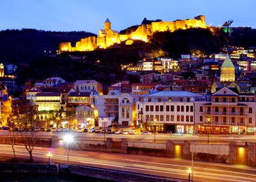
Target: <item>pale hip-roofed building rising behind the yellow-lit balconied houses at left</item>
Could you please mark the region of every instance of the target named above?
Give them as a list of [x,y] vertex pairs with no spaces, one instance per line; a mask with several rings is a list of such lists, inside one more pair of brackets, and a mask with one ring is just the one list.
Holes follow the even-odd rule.
[[74,89],[79,92],[99,92],[99,94],[103,94],[103,85],[95,80],[77,80],[74,82]]

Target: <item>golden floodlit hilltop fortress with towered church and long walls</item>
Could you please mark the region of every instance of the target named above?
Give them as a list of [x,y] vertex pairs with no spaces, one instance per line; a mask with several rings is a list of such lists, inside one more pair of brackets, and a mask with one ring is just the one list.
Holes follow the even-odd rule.
[[[150,24],[143,24],[138,26],[136,31],[131,34],[120,34],[118,31],[111,29],[111,22],[107,18],[104,22],[104,29],[99,30],[98,36],[89,36],[81,38],[76,42],[76,46],[72,47],[71,42],[62,42],[59,44],[59,53],[71,51],[93,51],[97,47],[106,48],[113,44],[120,44],[126,40],[142,40],[148,42],[148,37],[152,36],[154,32],[175,31],[177,29],[189,29],[192,27],[205,28],[205,17],[195,16],[194,19],[178,19],[176,21],[158,21]],[[131,44],[131,41],[127,42]]]

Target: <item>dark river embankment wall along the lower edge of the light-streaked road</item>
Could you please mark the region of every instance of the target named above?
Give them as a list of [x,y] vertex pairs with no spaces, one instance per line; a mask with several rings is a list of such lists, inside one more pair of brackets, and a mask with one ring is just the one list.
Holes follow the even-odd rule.
[[[184,179],[145,175],[121,170],[109,170],[72,164],[38,164],[38,163],[0,163],[0,174],[44,174],[44,175],[76,175],[94,177],[110,181],[149,181],[149,182],[183,182]],[[3,175],[1,175],[3,176]],[[8,176],[8,175],[4,175]],[[1,179],[1,177],[0,177]],[[1,180],[0,180],[1,181]]]

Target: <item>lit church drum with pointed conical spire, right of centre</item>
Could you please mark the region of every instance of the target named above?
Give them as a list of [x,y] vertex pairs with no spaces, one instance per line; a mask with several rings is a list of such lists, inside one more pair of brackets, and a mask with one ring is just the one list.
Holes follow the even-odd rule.
[[221,82],[235,81],[234,64],[232,63],[229,55],[227,55],[223,64],[221,65]]

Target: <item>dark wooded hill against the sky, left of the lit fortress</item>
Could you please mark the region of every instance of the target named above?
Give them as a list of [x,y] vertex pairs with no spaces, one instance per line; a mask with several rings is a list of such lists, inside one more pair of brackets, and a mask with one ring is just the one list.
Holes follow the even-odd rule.
[[84,31],[51,32],[35,29],[0,31],[0,60],[4,64],[31,62],[45,55],[55,55],[60,42],[75,44],[80,38],[87,36],[95,34]]

